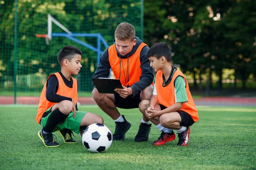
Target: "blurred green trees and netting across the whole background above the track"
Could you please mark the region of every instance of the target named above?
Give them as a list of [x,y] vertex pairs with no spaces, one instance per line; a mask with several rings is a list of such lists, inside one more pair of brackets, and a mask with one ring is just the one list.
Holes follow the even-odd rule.
[[[83,52],[76,78],[90,96],[97,52],[63,36],[49,45],[35,37],[47,34],[48,14],[72,33],[101,34],[107,45],[119,23],[131,23],[149,47],[171,46],[192,94],[256,96],[255,9],[255,0],[0,0],[0,96],[39,96],[47,76],[60,70],[65,45]],[[65,31],[52,23],[52,33]],[[105,50],[95,37],[76,39]]]

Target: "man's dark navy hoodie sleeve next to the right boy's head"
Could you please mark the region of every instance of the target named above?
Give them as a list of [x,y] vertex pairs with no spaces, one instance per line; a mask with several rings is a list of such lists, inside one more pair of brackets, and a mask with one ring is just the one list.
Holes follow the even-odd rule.
[[140,52],[140,68],[141,68],[141,77],[139,82],[134,83],[134,85],[131,86],[131,89],[133,91],[133,94],[131,96],[135,96],[139,93],[139,91],[142,91],[144,88],[151,85],[153,82],[154,74],[153,74],[153,68],[150,67],[150,61],[148,60],[148,53],[149,47],[145,46]]

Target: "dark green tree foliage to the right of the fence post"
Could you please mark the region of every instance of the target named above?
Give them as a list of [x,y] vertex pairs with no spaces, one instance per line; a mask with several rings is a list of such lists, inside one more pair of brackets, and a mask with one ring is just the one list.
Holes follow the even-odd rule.
[[[233,68],[238,79],[256,74],[256,1],[145,1],[145,41],[167,42],[173,62],[190,73]],[[245,86],[245,84],[244,84]]]

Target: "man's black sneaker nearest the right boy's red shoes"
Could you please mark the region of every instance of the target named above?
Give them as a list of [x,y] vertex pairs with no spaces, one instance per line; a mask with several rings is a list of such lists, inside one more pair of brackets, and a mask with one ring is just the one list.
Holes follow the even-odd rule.
[[139,131],[135,136],[135,142],[145,142],[148,141],[148,135],[150,133],[151,124],[140,123]]

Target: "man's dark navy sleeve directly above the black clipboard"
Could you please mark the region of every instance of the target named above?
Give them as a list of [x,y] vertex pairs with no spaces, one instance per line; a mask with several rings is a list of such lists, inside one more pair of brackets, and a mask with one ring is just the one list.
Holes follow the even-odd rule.
[[93,75],[93,78],[99,78],[99,77],[108,77],[110,72],[110,63],[108,60],[108,48],[105,49],[105,51],[102,53],[101,57],[99,58],[99,64],[95,71],[95,74]]

